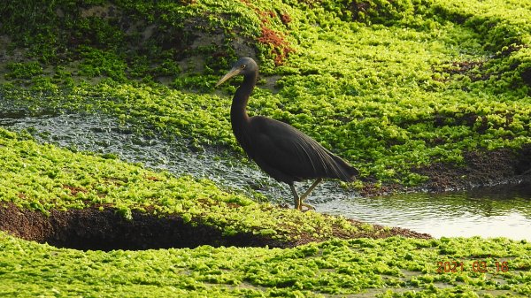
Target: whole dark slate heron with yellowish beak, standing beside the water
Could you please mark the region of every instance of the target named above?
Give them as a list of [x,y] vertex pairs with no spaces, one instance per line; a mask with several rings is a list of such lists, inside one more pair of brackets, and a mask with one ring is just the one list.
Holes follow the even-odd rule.
[[[235,92],[230,109],[236,140],[264,172],[289,185],[297,210],[303,206],[313,209],[303,200],[324,178],[355,180],[356,168],[295,127],[271,118],[247,115],[247,102],[258,79],[258,65],[252,58],[240,58],[216,87],[238,74],[242,74],[243,82]],[[312,186],[299,196],[294,182],[313,179]]]

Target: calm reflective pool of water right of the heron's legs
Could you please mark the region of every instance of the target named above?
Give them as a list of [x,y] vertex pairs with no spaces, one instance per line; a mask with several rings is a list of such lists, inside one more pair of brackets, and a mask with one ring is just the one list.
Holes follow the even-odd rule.
[[442,195],[340,199],[319,210],[409,228],[434,237],[509,237],[531,241],[531,184]]

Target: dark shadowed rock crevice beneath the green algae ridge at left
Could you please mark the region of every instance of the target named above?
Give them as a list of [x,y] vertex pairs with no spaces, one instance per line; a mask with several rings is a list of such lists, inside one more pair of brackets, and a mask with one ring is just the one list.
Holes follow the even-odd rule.
[[58,248],[81,250],[196,248],[201,245],[236,247],[284,247],[287,244],[252,233],[226,236],[210,225],[192,225],[179,217],[159,218],[132,211],[124,218],[116,209],[23,210],[13,203],[0,204],[0,230],[14,236]]

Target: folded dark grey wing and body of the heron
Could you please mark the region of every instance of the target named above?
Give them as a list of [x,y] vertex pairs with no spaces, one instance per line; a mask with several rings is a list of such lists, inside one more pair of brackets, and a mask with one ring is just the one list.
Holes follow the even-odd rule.
[[253,117],[250,128],[248,153],[276,180],[335,178],[351,181],[358,174],[358,170],[342,158],[293,126],[270,118]]

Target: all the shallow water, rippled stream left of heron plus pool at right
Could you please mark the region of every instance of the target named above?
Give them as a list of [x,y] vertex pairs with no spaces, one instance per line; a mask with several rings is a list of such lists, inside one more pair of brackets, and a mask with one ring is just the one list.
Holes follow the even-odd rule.
[[[0,111],[0,126],[27,131],[37,141],[60,147],[113,153],[129,162],[176,175],[208,178],[219,187],[261,194],[273,202],[291,203],[287,186],[274,181],[255,164],[226,151],[194,152],[183,141],[165,141],[135,134],[134,127],[93,114],[44,114]],[[301,183],[298,187],[309,187]],[[442,236],[504,236],[531,241],[531,184],[443,195],[407,194],[360,197],[335,181],[319,185],[308,202],[320,212],[379,224],[400,226]]]

